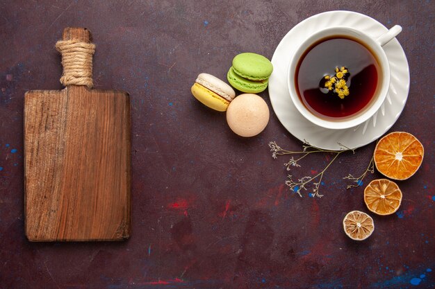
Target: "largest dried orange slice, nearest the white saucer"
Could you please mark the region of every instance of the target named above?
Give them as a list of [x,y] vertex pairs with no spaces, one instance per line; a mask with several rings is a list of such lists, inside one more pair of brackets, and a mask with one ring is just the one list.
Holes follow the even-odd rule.
[[402,180],[416,173],[424,154],[422,144],[412,134],[391,132],[377,143],[374,159],[379,173]]

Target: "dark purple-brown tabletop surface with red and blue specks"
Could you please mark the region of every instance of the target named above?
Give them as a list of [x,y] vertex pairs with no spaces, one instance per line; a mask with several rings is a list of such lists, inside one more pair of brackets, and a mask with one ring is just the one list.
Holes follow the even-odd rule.
[[[272,159],[268,142],[302,143],[279,123],[267,91],[270,123],[252,139],[190,94],[198,73],[225,79],[241,52],[272,58],[288,30],[327,10],[403,27],[411,89],[391,131],[425,146],[418,173],[399,184],[402,207],[371,213],[375,232],[361,243],[345,236],[342,220],[368,211],[363,187],[346,190],[342,177],[365,170],[374,143],[340,156],[324,198],[299,198],[284,186],[288,157]],[[0,288],[434,288],[434,14],[434,1],[405,0],[1,1]],[[24,236],[24,92],[62,88],[54,44],[66,26],[92,31],[95,86],[131,94],[133,223],[122,243]],[[292,173],[311,175],[330,157],[310,156]]]

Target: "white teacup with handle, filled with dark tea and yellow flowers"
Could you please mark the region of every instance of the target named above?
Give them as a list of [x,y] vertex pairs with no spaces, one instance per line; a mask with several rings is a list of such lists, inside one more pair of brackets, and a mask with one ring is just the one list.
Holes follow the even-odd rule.
[[350,27],[314,33],[288,67],[290,97],[315,125],[352,128],[367,121],[386,98],[390,66],[382,46],[400,33],[394,26],[377,39]]

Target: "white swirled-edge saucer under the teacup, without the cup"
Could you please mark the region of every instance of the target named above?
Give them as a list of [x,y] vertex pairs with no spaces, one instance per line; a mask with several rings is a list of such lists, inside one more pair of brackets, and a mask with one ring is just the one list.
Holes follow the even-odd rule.
[[391,69],[390,89],[374,116],[355,128],[345,130],[321,128],[305,119],[293,105],[288,91],[287,69],[291,55],[297,44],[316,30],[338,25],[363,30],[373,37],[388,30],[375,19],[350,11],[330,11],[309,17],[293,27],[279,42],[272,57],[274,70],[269,78],[270,103],[279,121],[297,139],[327,150],[340,150],[338,143],[348,148],[359,148],[381,137],[399,118],[409,92],[407,57],[397,39],[394,39],[384,46]]

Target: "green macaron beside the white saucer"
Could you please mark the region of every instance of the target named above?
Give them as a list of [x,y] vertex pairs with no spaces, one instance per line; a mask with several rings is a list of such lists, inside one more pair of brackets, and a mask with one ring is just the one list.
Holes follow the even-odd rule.
[[256,53],[240,53],[233,58],[232,64],[227,78],[234,88],[256,94],[268,87],[268,79],[273,71],[268,58]]

